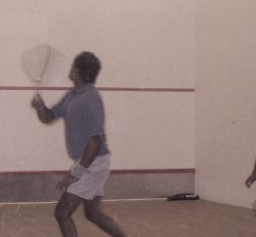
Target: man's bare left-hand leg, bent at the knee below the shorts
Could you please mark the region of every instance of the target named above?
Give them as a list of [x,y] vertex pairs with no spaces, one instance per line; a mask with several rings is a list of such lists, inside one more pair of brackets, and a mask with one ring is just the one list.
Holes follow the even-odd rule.
[[61,228],[64,237],[78,237],[76,226],[71,218],[72,213],[82,203],[82,198],[74,194],[64,192],[55,209],[55,218]]

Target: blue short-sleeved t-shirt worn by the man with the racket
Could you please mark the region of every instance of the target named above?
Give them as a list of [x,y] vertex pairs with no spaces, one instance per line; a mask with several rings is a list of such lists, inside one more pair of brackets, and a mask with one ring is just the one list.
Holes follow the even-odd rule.
[[68,155],[82,157],[89,138],[101,136],[99,155],[109,153],[104,132],[104,109],[101,95],[93,83],[68,91],[51,108],[55,118],[64,118],[65,141]]

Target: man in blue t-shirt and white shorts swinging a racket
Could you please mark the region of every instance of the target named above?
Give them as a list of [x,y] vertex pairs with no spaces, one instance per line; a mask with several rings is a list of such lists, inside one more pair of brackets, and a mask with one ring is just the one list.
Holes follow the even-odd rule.
[[58,185],[64,193],[56,207],[55,217],[64,237],[78,236],[71,215],[82,203],[89,221],[111,236],[127,236],[101,211],[110,154],[104,134],[103,104],[94,86],[100,70],[99,59],[91,52],[82,52],[74,60],[69,73],[75,87],[62,100],[50,109],[39,95],[31,101],[42,122],[64,118],[67,152],[75,161],[70,174]]

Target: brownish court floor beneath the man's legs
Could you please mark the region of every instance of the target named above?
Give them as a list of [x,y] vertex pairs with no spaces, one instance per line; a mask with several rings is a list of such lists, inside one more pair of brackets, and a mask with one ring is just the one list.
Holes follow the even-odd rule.
[[[106,201],[103,209],[131,237],[255,237],[252,210],[208,201]],[[53,218],[55,204],[0,205],[1,237],[61,237]],[[84,220],[82,208],[74,214],[80,237],[106,237]]]

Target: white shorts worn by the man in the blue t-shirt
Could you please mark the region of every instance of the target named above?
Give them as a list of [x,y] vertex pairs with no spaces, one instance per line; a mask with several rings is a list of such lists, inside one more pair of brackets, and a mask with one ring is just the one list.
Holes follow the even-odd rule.
[[102,196],[105,181],[110,173],[110,154],[97,156],[88,167],[88,171],[82,175],[81,179],[71,184],[66,191],[86,200],[92,200],[98,195]]

